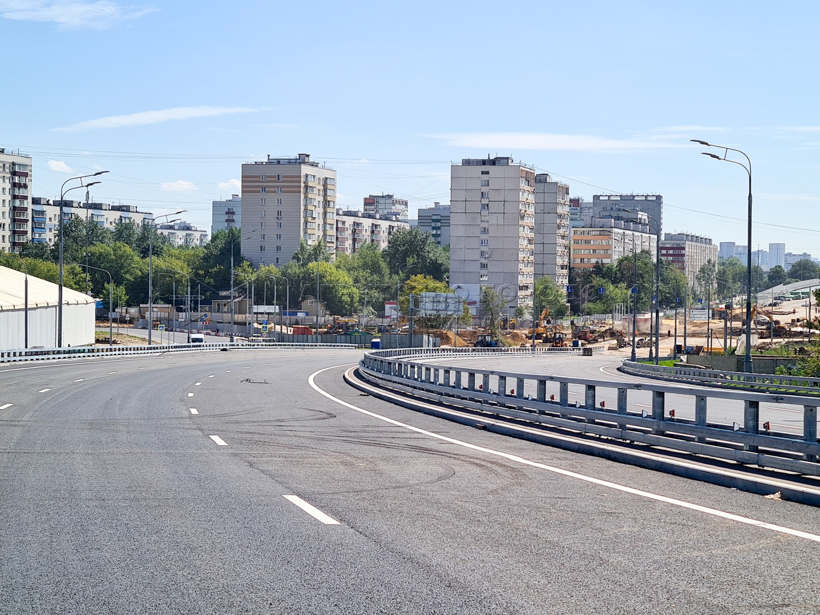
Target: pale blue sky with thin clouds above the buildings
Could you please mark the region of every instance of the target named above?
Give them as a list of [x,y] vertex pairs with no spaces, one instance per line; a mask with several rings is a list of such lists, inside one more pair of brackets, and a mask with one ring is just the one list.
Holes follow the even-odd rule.
[[663,194],[664,231],[745,244],[748,176],[702,139],[751,159],[754,248],[820,256],[818,18],[801,0],[0,0],[0,147],[34,157],[34,196],[107,170],[93,200],[205,230],[268,154],[335,168],[339,207],[393,193],[411,217],[449,201],[452,162],[512,156],[586,200]]

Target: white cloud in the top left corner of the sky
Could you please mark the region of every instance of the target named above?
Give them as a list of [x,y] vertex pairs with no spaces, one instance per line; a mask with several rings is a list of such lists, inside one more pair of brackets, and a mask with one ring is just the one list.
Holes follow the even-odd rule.
[[0,0],[0,17],[17,21],[45,21],[60,30],[107,30],[121,21],[157,11],[110,0]]

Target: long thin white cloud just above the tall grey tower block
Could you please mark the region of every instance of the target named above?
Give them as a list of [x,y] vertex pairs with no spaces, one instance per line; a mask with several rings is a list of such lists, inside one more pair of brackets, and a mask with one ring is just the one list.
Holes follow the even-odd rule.
[[489,148],[491,150],[544,149],[566,152],[607,152],[686,147],[686,144],[659,143],[639,139],[605,139],[587,134],[487,132],[428,134],[426,136],[433,139],[444,139],[448,145],[457,148]]

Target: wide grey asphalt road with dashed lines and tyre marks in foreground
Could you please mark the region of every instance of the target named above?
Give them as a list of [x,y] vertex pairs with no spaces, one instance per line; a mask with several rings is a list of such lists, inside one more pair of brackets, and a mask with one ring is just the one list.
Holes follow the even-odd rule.
[[817,508],[362,396],[360,356],[0,367],[0,612],[820,610]]

